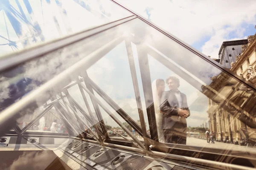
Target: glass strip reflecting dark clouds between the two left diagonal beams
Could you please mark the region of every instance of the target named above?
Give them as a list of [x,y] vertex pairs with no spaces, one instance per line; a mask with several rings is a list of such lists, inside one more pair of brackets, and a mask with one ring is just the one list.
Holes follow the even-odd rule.
[[[35,90],[35,88],[43,85],[49,79],[52,79],[52,77],[57,76],[88,54],[92,54],[93,51],[96,51],[102,46],[104,47],[104,45],[112,43],[109,37],[119,40],[119,36],[122,35],[119,27],[108,30],[107,32],[108,34],[105,34],[106,32],[104,32],[104,34],[96,34],[79,43],[53,51],[42,58],[25,62],[10,70],[2,71],[0,75],[0,91],[2,92],[0,96],[2,106],[0,111],[12,105],[17,99],[29,94],[29,92]],[[120,34],[118,34],[118,32]],[[98,40],[102,38],[104,40],[98,42]],[[61,85],[62,88],[66,85],[70,85],[75,79],[76,78],[72,77],[71,80]],[[56,87],[53,91],[58,91],[59,88],[60,87]],[[45,97],[46,100],[49,100],[48,96]],[[44,104],[44,102],[41,101],[38,101],[38,103],[40,103],[40,105]],[[36,103],[36,105],[38,105],[38,103]]]

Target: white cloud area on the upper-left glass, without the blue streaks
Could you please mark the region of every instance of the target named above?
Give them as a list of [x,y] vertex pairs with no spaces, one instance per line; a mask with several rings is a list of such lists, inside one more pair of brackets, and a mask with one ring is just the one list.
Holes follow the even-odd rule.
[[[34,39],[37,40],[37,43],[49,41],[72,32],[75,33],[131,16],[131,13],[128,11],[106,0],[86,0],[77,2],[73,0],[61,0],[58,1],[58,3],[61,3],[61,6],[57,6],[55,1],[51,0],[49,2],[50,3],[47,3],[47,1],[29,0],[32,7],[31,13],[26,10],[26,6],[23,2],[20,3],[27,20],[34,25],[34,28],[17,17],[19,21],[15,22],[21,23],[21,28],[18,28],[21,31],[19,36],[16,35],[12,24],[5,16],[10,39],[12,41],[20,40],[21,42],[29,40],[29,44],[27,45],[18,43],[17,45],[20,48],[34,44]],[[11,3],[14,8],[19,11],[16,2],[12,0]],[[1,18],[3,19],[3,13],[0,14],[0,19]],[[2,30],[0,32],[3,33],[1,35],[7,37],[4,20],[0,21],[0,30]],[[39,31],[39,28],[41,28],[41,31]],[[2,42],[6,43],[6,40],[0,39],[0,43]],[[5,48],[3,46],[1,46],[0,49],[2,51],[1,54],[4,54],[3,52],[5,51],[12,51],[12,48]]]

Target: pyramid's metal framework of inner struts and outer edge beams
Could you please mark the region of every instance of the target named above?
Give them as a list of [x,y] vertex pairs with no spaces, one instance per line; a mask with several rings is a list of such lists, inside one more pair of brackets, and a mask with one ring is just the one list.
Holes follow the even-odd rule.
[[[25,0],[24,0],[25,1]],[[113,3],[116,3],[114,0],[111,0]],[[117,20],[114,21],[112,23],[108,23],[105,24],[103,26],[99,26],[87,31],[82,31],[79,32],[77,34],[74,34],[72,36],[67,36],[64,37],[60,40],[58,40],[58,43],[56,42],[51,42],[49,44],[44,44],[41,46],[38,46],[36,48],[32,48],[29,51],[23,51],[20,54],[12,54],[9,56],[9,58],[4,58],[2,60],[0,60],[0,62],[6,63],[6,65],[0,65],[0,70],[3,71],[7,68],[11,68],[17,64],[23,63],[25,61],[29,61],[30,59],[35,59],[36,57],[41,57],[43,55],[47,55],[49,52],[51,51],[55,51],[59,48],[68,46],[70,44],[74,44],[76,42],[79,42],[81,40],[84,40],[94,34],[99,34],[102,31],[114,28],[120,24],[126,23],[130,20],[134,20],[135,18],[139,18],[140,20],[142,20],[143,22],[147,23],[149,26],[157,29],[158,31],[160,31],[162,34],[165,34],[167,37],[169,37],[170,39],[174,40],[175,42],[179,43],[180,45],[184,46],[185,48],[187,48],[189,51],[191,51],[192,53],[198,55],[199,57],[201,57],[202,59],[206,60],[207,62],[209,62],[210,64],[214,65],[217,68],[220,68],[225,74],[230,75],[231,77],[233,77],[234,79],[236,79],[238,82],[243,82],[243,80],[241,79],[241,77],[238,77],[236,74],[231,73],[230,71],[227,71],[226,69],[224,69],[221,65],[219,65],[216,62],[213,62],[212,60],[209,59],[209,57],[205,56],[204,54],[201,54],[201,52],[195,50],[194,48],[190,47],[189,45],[187,45],[186,43],[182,42],[181,40],[177,39],[176,37],[174,37],[173,35],[169,34],[167,31],[164,31],[163,29],[155,26],[153,23],[151,23],[150,21],[146,20],[145,18],[141,17],[140,15],[136,14],[135,12],[129,10],[128,8],[125,8],[124,6],[119,5],[119,3],[116,3],[118,6],[124,8],[127,11],[130,11],[131,14],[133,16],[131,17],[127,17],[127,18],[123,18],[121,20]],[[142,127],[140,128],[137,123],[128,116],[127,113],[125,113],[125,111],[123,111],[115,102],[113,102],[113,100],[111,100],[111,98],[109,96],[107,96],[104,91],[102,91],[89,77],[87,74],[83,74],[81,75],[81,73],[79,71],[76,71],[76,69],[79,68],[83,68],[84,70],[87,70],[87,68],[89,68],[91,65],[93,65],[95,62],[97,62],[99,59],[101,59],[102,56],[104,56],[108,51],[110,51],[111,49],[113,49],[117,44],[119,44],[120,42],[122,42],[124,39],[123,38],[119,38],[119,39],[114,39],[111,40],[110,42],[108,42],[108,44],[106,44],[105,46],[101,47],[99,50],[97,50],[95,53],[88,55],[89,58],[92,60],[90,64],[84,62],[84,60],[81,60],[81,62],[83,62],[81,65],[81,63],[76,63],[75,65],[72,65],[70,68],[68,68],[68,73],[71,76],[74,76],[76,79],[76,82],[71,83],[70,85],[67,85],[66,87],[63,88],[63,92],[65,93],[66,96],[69,96],[69,94],[67,93],[67,88],[70,88],[72,85],[79,85],[79,88],[83,90],[85,90],[89,95],[91,100],[93,101],[93,107],[94,109],[97,111],[99,110],[99,106],[101,105],[102,108],[105,109],[105,111],[111,115],[111,113],[104,107],[104,105],[102,105],[101,102],[99,102],[98,99],[96,99],[96,97],[94,96],[94,94],[92,93],[93,90],[96,91],[96,93],[98,93],[102,99],[104,99],[112,108],[114,108],[116,110],[116,112],[123,118],[125,119],[125,121],[131,125],[134,129],[137,130],[137,132],[141,135],[144,136],[144,143],[145,146],[142,142],[138,141],[136,139],[136,137],[133,136],[133,134],[129,134],[132,138],[133,141],[129,141],[129,139],[127,139],[129,142],[134,142],[135,141],[135,145],[137,144],[137,147],[142,148],[143,150],[149,150],[149,144],[152,144],[154,142],[158,141],[158,136],[157,136],[157,128],[156,128],[156,121],[155,121],[155,113],[154,113],[154,105],[148,105],[148,103],[146,104],[147,107],[147,114],[148,114],[148,121],[150,124],[150,132],[151,132],[151,136],[147,135],[146,133],[146,128],[145,128],[145,120],[143,120],[143,112],[140,111],[139,109],[142,108],[141,106],[141,100],[140,100],[140,93],[138,92],[138,82],[137,82],[137,77],[136,77],[136,71],[135,71],[135,67],[134,67],[134,61],[133,61],[133,56],[131,55],[131,46],[130,43],[132,42],[132,38],[131,40],[125,40],[125,44],[126,44],[126,49],[128,52],[128,58],[129,58],[129,66],[131,68],[131,75],[132,75],[132,80],[133,80],[133,85],[134,85],[134,91],[136,93],[136,99],[137,99],[137,107],[138,107],[138,111],[139,111],[139,116],[140,116],[140,121],[142,122]],[[54,45],[55,46],[54,46]],[[110,49],[110,50],[109,50]],[[145,101],[152,101],[153,97],[152,97],[152,91],[151,91],[151,80],[150,80],[150,73],[149,73],[149,67],[148,65],[144,65],[145,59],[147,59],[147,54],[151,54],[151,56],[153,56],[155,59],[157,59],[158,61],[164,63],[164,65],[166,65],[167,68],[172,68],[172,69],[176,69],[177,73],[180,75],[180,77],[188,77],[189,75],[186,74],[184,71],[182,71],[180,68],[178,68],[177,66],[173,65],[171,62],[169,62],[167,59],[165,59],[164,57],[160,56],[159,54],[156,54],[155,51],[152,51],[150,49],[147,49],[147,53],[140,53],[139,54],[139,64],[140,64],[140,72],[143,75],[148,75],[145,77],[142,77],[142,81],[143,81],[143,92],[144,94],[149,94],[149,95],[145,95]],[[35,53],[36,52],[36,53]],[[154,53],[154,54],[153,54]],[[20,59],[21,58],[21,59]],[[8,61],[14,61],[12,63],[8,62]],[[143,61],[144,60],[144,61]],[[147,63],[147,62],[146,62]],[[67,74],[66,74],[67,75]],[[57,80],[53,80],[51,79],[50,81],[53,83],[53,85],[57,85],[59,82],[58,81],[63,81],[63,82],[67,82],[68,78],[64,77],[64,74],[61,74],[60,77],[58,77]],[[84,78],[86,85],[84,86],[83,84],[81,84],[82,81],[84,81],[83,79],[79,79],[81,77]],[[191,77],[190,77],[191,78]],[[190,80],[190,79],[188,79]],[[189,82],[192,86],[194,86],[195,88],[197,88],[198,90],[202,88],[202,85],[198,82],[195,81],[191,81]],[[250,87],[251,89],[253,89],[253,91],[255,90],[255,86],[251,85],[249,82],[243,82],[244,84],[246,84],[248,87]],[[48,85],[48,86],[47,86]],[[51,87],[51,85],[47,84],[47,85],[42,85],[42,87],[36,89],[35,91],[32,91],[31,94],[28,94],[29,97],[32,97],[31,100],[29,100],[29,102],[31,102],[34,98],[36,98],[36,94],[42,94],[45,91],[47,91],[47,88]],[[81,91],[81,95],[83,96],[83,93]],[[55,94],[56,95],[56,94]],[[33,98],[34,97],[34,98]],[[55,96],[54,96],[55,97]],[[75,113],[76,116],[76,120],[77,122],[79,122],[79,124],[86,124],[86,122],[83,122],[81,119],[79,119],[79,116],[76,115],[76,109],[79,109],[81,113],[84,113],[84,116],[87,117],[87,119],[91,121],[92,124],[94,124],[93,122],[95,121],[94,118],[92,117],[91,113],[90,113],[90,108],[87,107],[89,113],[85,113],[85,111],[83,111],[82,107],[72,98],[70,98],[70,96],[68,97],[68,101],[70,106],[66,106],[66,110],[64,108],[64,106],[62,106],[58,100],[61,100],[62,96],[60,98],[52,98],[52,103],[49,104],[47,106],[47,109],[49,107],[55,107],[56,110],[58,111],[58,113],[60,115],[62,115],[63,117],[63,121],[65,123],[65,125],[67,127],[69,127],[70,131],[69,131],[69,135],[70,136],[76,136],[74,134],[74,131],[77,131],[75,127],[73,127],[73,125],[70,124],[70,122],[68,122],[67,120],[69,119],[69,108],[73,111],[73,113]],[[86,104],[86,99],[84,99],[84,102]],[[63,99],[62,99],[63,100]],[[20,102],[21,101],[21,102]],[[26,107],[26,105],[28,105],[27,101],[23,101],[23,99],[21,99],[17,105],[24,105],[24,107]],[[87,105],[87,104],[86,104]],[[16,105],[15,105],[16,106]],[[98,108],[97,108],[98,107]],[[5,115],[8,115],[9,113],[9,117],[8,119],[3,119],[1,121],[6,121],[9,119],[12,119],[12,117],[15,116],[16,113],[18,113],[19,108],[16,108],[15,111],[11,111],[11,110],[4,110],[3,113]],[[40,113],[39,116],[37,116],[34,120],[32,120],[32,122],[35,122],[36,120],[38,120],[41,116],[43,116],[46,113],[46,111]],[[86,115],[85,115],[86,114]],[[89,116],[90,115],[90,116]],[[100,112],[97,111],[97,118],[99,121],[100,119]],[[11,117],[11,118],[10,118]],[[118,124],[120,124],[120,121],[118,121],[117,119],[115,119],[114,117],[112,117]],[[101,120],[100,121],[100,125],[97,126],[96,128],[96,133],[93,136],[95,137],[95,140],[102,143],[104,142],[104,140],[111,140],[108,138],[108,135],[106,135],[106,127],[104,122]],[[32,123],[31,123],[32,124]],[[31,126],[29,124],[29,126]],[[81,125],[79,125],[81,128]],[[122,124],[120,124],[120,126],[122,127]],[[23,136],[23,134],[26,132],[26,130],[29,127],[27,127],[24,130],[20,130],[19,128],[15,127],[14,130],[17,133],[18,136]],[[123,127],[123,129],[125,129],[125,127]],[[129,132],[128,132],[129,133]],[[102,138],[102,139],[101,139]],[[105,138],[105,139],[104,139]]]

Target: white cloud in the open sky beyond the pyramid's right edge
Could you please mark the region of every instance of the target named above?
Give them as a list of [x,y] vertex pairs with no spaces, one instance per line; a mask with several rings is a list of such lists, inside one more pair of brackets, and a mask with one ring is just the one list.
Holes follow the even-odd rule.
[[[218,57],[218,50],[227,36],[235,31],[236,39],[244,38],[242,24],[255,24],[256,1],[247,0],[118,0],[143,17],[150,9],[153,23],[192,45],[204,37],[212,37],[205,43],[202,52]],[[134,5],[136,4],[136,5]],[[233,37],[232,37],[233,39]]]

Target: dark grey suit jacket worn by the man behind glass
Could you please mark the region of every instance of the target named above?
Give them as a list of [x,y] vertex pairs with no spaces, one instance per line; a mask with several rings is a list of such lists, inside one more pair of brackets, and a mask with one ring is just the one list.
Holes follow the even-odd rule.
[[[177,97],[172,91],[164,91],[160,100],[160,111],[163,112],[163,129],[171,129],[172,127],[180,126],[180,123],[186,127],[186,118],[180,117],[178,120],[178,108],[182,108],[183,110],[190,111],[187,104],[186,95],[180,92],[180,96],[182,99],[181,106],[178,103]],[[179,125],[175,123],[180,122]],[[177,128],[178,128],[177,127]]]

